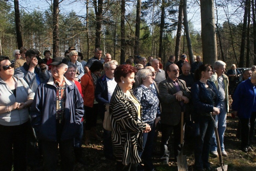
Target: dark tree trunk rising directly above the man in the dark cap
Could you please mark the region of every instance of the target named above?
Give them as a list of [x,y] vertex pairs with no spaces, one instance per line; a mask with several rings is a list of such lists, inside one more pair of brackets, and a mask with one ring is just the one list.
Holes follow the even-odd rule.
[[59,0],[53,0],[53,58],[59,55]]

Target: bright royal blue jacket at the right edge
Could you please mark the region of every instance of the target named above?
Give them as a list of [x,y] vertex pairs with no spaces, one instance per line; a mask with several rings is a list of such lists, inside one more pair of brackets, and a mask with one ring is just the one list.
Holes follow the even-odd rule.
[[251,118],[255,99],[255,86],[251,79],[241,82],[233,94],[232,110],[237,111],[239,118]]

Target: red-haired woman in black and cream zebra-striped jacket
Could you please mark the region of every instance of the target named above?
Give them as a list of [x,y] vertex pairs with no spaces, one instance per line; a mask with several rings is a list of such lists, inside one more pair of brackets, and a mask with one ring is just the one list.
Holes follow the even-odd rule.
[[117,160],[117,170],[137,170],[141,159],[142,133],[151,130],[141,122],[142,107],[133,95],[132,87],[136,68],[119,65],[114,71],[117,86],[110,100],[113,152]]

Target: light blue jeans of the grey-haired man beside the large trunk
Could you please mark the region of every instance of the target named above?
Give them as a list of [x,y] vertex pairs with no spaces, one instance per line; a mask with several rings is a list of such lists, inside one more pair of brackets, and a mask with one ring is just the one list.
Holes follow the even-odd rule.
[[[224,151],[224,133],[227,126],[227,108],[224,106],[221,109],[220,114],[216,115],[216,124],[218,127],[218,134],[220,139],[221,151]],[[217,142],[215,132],[213,131],[212,139],[211,139],[211,151],[217,151]]]

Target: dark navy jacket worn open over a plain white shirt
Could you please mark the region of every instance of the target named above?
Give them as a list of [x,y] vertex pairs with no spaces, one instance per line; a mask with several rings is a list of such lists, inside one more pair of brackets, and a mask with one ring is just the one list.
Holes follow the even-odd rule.
[[95,100],[99,103],[99,113],[100,116],[104,115],[105,107],[104,104],[109,104],[108,102],[108,83],[106,75],[101,76],[96,83],[95,87]]

